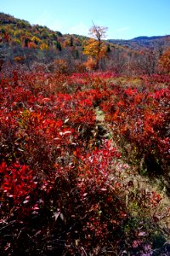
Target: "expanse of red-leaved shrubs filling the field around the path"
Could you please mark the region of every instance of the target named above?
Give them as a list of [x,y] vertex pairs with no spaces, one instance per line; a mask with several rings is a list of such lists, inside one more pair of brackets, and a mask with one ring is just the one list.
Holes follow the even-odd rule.
[[[152,87],[156,77],[144,78],[141,88],[111,84],[113,77],[22,70],[1,74],[1,224],[16,224],[10,231],[18,232],[16,243],[23,229],[32,237],[41,229],[38,246],[54,232],[54,241],[65,236],[63,247],[72,255],[83,247],[94,253],[99,246],[110,247],[110,241],[118,250],[122,238],[116,234],[124,236],[123,225],[130,218],[126,193],[133,183],[123,184],[116,172],[121,154],[112,140],[94,135],[95,107],[105,112],[116,143],[126,139],[140,157],[154,156],[166,166],[169,90]],[[144,208],[160,201],[161,195],[154,193],[138,197]]]

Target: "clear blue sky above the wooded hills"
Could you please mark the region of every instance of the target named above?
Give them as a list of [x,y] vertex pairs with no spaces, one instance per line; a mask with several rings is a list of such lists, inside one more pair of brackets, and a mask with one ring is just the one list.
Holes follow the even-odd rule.
[[107,38],[170,34],[170,0],[0,0],[0,11],[62,33],[88,35],[94,20]]

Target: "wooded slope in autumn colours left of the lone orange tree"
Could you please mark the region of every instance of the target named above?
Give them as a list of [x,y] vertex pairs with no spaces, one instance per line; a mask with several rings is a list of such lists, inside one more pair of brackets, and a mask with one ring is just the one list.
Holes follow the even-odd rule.
[[86,37],[63,35],[47,26],[31,25],[26,20],[0,13],[0,61],[49,63],[55,59],[83,60]]

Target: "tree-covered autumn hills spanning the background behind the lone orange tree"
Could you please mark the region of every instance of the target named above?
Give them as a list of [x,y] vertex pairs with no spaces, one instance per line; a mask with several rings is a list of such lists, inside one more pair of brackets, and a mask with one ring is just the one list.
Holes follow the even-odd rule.
[[[84,54],[86,45],[93,45],[91,39],[81,35],[63,35],[48,29],[47,26],[31,26],[26,20],[15,19],[2,13],[0,38],[1,63],[21,63],[28,69],[39,66],[46,71],[61,68],[65,72],[83,72],[95,69],[93,58],[90,60]],[[99,61],[100,70],[111,70],[131,76],[159,72],[158,61],[170,47],[169,37],[103,42],[105,50]],[[150,47],[145,47],[148,42]],[[94,46],[93,51],[95,52]]]

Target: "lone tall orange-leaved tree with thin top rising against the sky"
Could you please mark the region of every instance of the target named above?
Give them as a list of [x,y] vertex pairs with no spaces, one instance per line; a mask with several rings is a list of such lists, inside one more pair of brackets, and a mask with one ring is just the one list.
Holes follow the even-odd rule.
[[92,26],[89,29],[89,35],[92,37],[85,41],[83,53],[88,55],[88,61],[95,63],[93,67],[99,69],[99,61],[106,55],[107,48],[103,42],[107,27],[104,26]]

